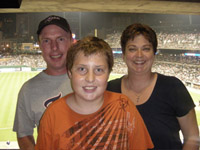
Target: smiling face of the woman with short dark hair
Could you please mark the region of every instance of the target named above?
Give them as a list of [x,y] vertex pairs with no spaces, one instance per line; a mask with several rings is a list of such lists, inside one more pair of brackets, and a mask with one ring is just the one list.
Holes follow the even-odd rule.
[[154,57],[152,44],[141,34],[127,42],[123,55],[128,72],[141,75],[151,72]]

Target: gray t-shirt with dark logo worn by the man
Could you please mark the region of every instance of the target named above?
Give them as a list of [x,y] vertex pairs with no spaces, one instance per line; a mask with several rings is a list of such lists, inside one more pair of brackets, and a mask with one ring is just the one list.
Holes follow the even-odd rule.
[[41,72],[25,82],[18,95],[13,131],[18,137],[33,135],[48,105],[71,92],[67,74],[51,76]]

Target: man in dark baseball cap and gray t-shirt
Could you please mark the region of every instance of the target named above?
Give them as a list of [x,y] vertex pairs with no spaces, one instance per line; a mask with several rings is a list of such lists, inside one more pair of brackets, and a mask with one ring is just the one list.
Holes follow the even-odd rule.
[[21,150],[34,150],[33,129],[50,103],[72,92],[66,56],[72,43],[70,26],[62,17],[49,16],[38,26],[38,41],[46,70],[27,81],[18,95],[13,131]]

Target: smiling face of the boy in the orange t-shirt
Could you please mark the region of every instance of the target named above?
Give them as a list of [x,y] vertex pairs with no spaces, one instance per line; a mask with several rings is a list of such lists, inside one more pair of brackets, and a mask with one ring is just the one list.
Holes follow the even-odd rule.
[[109,69],[106,56],[79,52],[69,71],[75,98],[78,101],[100,101],[107,87]]

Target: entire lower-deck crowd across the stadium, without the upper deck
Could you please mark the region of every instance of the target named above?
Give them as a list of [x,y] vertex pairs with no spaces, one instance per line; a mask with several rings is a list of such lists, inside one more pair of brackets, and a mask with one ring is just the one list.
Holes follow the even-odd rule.
[[[112,73],[126,74],[126,65],[121,54],[114,55],[115,63]],[[171,56],[169,54],[156,55],[153,71],[165,75],[176,76],[184,83],[200,85],[200,57]],[[32,68],[45,68],[46,64],[41,55],[14,55],[0,59],[0,66],[29,66]]]

